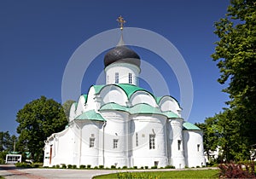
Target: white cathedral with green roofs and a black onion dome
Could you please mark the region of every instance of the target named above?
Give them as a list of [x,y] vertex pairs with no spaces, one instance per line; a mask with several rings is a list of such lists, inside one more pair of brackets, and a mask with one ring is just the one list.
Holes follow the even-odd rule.
[[47,138],[44,166],[175,168],[206,165],[202,131],[170,95],[138,87],[140,56],[122,41],[104,57],[106,84],[74,102],[65,130]]

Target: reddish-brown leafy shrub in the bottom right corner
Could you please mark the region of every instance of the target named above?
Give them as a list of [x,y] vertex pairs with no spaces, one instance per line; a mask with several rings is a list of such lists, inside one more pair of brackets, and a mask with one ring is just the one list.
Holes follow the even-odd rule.
[[230,164],[221,164],[218,168],[219,178],[256,178],[253,162],[244,165],[231,162]]

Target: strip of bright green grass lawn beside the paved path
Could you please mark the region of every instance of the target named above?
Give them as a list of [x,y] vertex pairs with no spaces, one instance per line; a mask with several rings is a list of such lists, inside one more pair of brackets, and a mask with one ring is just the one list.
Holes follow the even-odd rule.
[[218,170],[172,170],[172,171],[143,171],[143,172],[120,172],[98,178],[218,178]]

